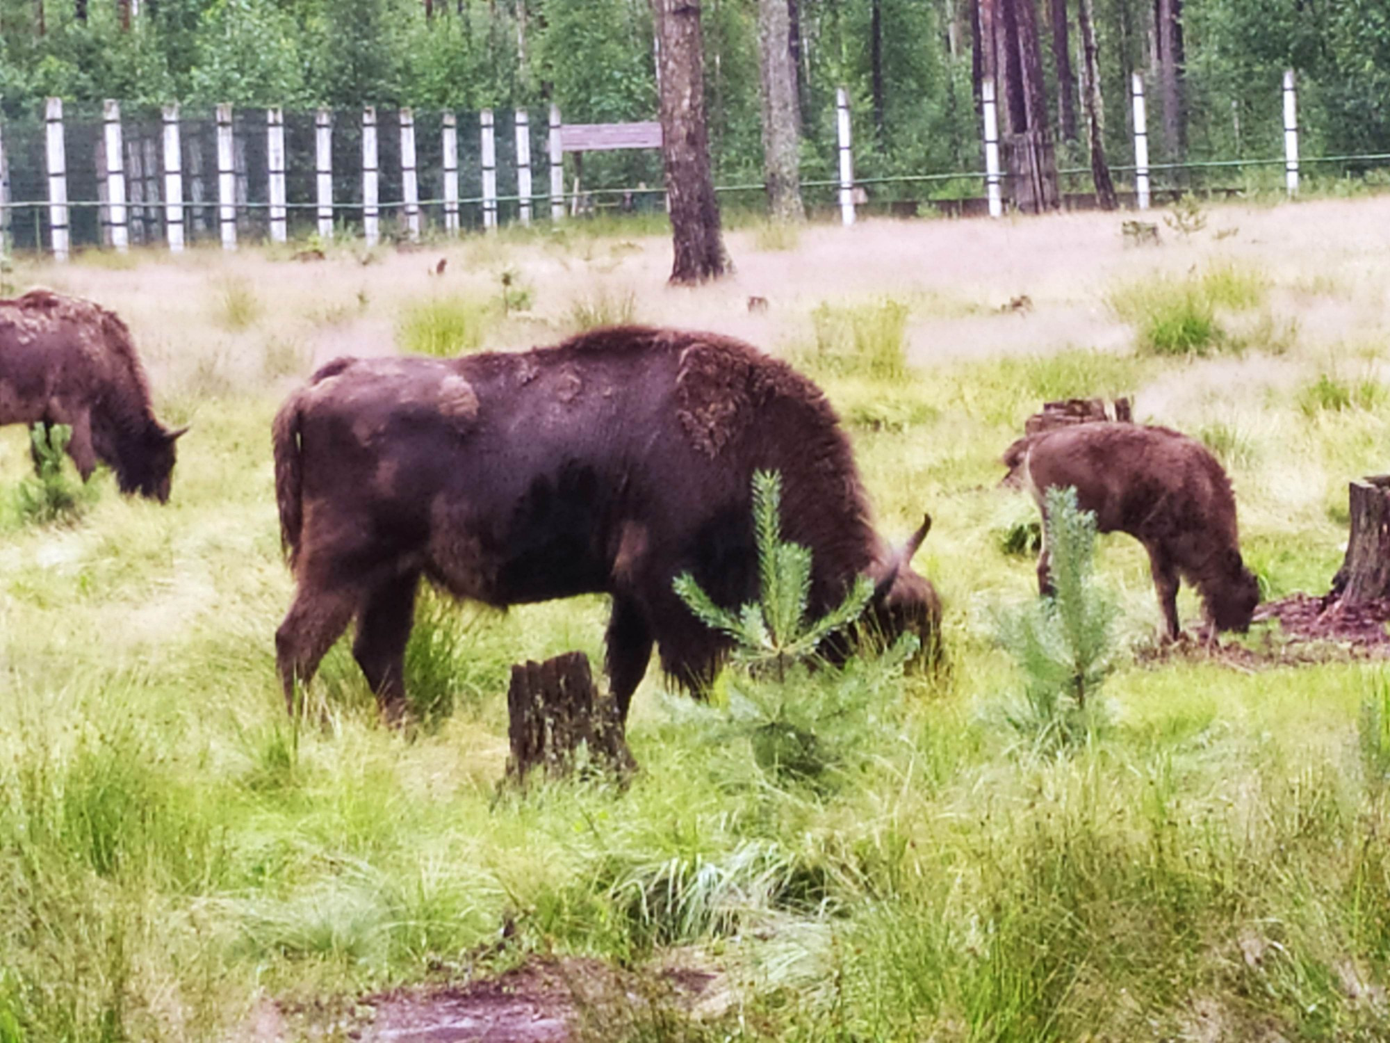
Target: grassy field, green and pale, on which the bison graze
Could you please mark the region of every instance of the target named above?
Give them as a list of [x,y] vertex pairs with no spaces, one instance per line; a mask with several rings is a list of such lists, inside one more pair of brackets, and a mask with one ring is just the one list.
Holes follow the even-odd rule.
[[[698,291],[664,288],[659,229],[623,227],[309,264],[15,261],[10,291],[126,317],[161,416],[192,432],[167,506],[103,476],[53,527],[24,520],[26,434],[0,431],[0,1042],[370,1037],[361,997],[538,957],[598,958],[651,997],[580,1018],[585,1039],[1390,1036],[1386,668],[1155,659],[1144,553],[1102,538],[1109,723],[1040,754],[1002,722],[1022,677],[995,619],[1036,585],[1006,551],[1031,506],[997,459],[1044,399],[1134,394],[1204,438],[1268,597],[1327,588],[1346,484],[1386,470],[1390,200],[1213,209],[1156,248],[1119,225],[744,229],[737,275]],[[1030,309],[1001,310],[1019,295]],[[339,353],[631,318],[746,337],[826,387],[884,531],[935,517],[917,567],[948,669],[863,674],[872,720],[821,784],[767,770],[726,706],[653,672],[630,789],[517,794],[496,787],[507,668],[599,658],[606,605],[427,599],[411,683],[445,712],[382,727],[339,648],[292,726],[272,648],[285,391]],[[799,683],[788,700],[813,704],[837,681]],[[698,1017],[663,994],[671,967],[714,975]]]

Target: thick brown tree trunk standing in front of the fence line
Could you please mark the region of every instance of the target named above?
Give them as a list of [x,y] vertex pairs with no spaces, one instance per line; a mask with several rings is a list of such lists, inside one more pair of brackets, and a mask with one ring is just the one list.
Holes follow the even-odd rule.
[[728,268],[709,168],[699,0],[652,0],[660,42],[662,159],[676,259],[671,282],[692,285]]

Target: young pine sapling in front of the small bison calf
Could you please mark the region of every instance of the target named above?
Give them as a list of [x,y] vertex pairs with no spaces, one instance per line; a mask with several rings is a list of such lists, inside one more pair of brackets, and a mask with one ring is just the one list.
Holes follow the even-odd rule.
[[999,620],[999,641],[1023,672],[1023,701],[1006,719],[1038,750],[1086,743],[1104,722],[1101,686],[1113,669],[1116,611],[1095,587],[1095,516],[1076,490],[1047,491],[1052,595]]

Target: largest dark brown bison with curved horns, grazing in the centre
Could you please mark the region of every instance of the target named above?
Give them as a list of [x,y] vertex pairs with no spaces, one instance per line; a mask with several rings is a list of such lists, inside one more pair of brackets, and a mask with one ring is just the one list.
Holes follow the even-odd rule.
[[751,485],[783,476],[783,531],[813,551],[809,608],[860,573],[870,620],[934,648],[940,602],[870,524],[826,396],[746,343],[642,327],[448,362],[338,359],[275,417],[275,495],[296,592],[275,634],[286,701],[356,617],[353,654],[388,719],[421,577],[506,606],[613,597],[607,673],[621,713],[653,642],[698,690],[727,640],[676,597],[758,597]]

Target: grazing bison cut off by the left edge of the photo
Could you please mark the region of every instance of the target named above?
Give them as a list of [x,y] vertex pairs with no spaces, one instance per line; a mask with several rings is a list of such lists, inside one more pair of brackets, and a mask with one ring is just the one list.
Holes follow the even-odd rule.
[[97,460],[121,492],[161,503],[174,444],[150,409],[145,369],[125,323],[90,300],[33,289],[0,300],[0,424],[67,424],[68,456],[82,480]]

